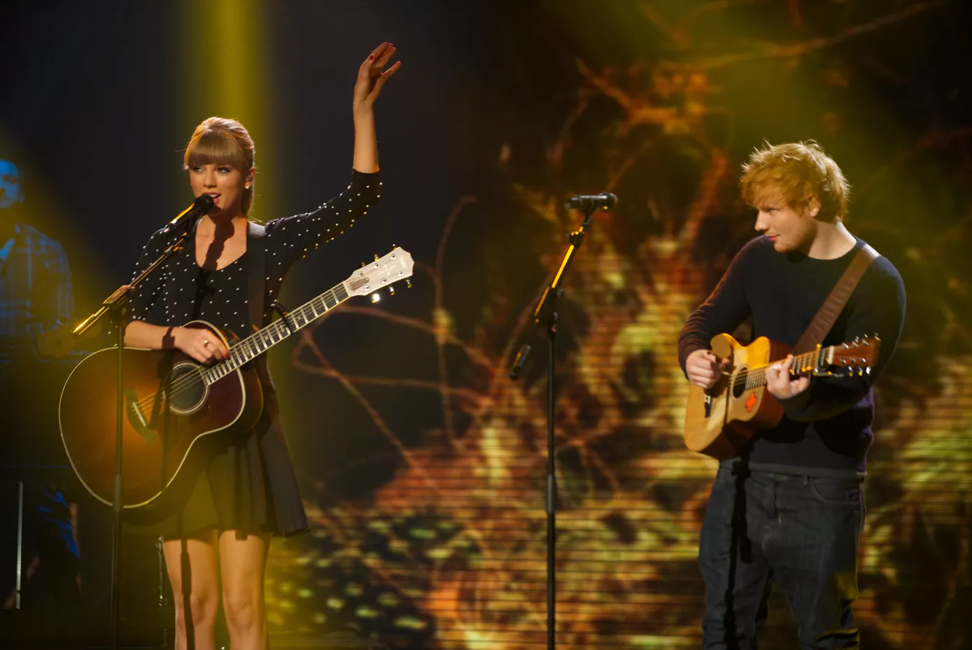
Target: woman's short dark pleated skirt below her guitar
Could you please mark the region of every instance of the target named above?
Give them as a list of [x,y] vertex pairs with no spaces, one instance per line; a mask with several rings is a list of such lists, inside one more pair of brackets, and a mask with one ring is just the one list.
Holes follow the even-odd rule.
[[263,413],[256,427],[210,434],[205,447],[192,450],[208,459],[194,478],[184,477],[174,507],[160,513],[126,513],[124,530],[165,539],[207,529],[235,530],[241,536],[267,532],[286,536],[307,530],[276,393],[264,385],[263,395]]

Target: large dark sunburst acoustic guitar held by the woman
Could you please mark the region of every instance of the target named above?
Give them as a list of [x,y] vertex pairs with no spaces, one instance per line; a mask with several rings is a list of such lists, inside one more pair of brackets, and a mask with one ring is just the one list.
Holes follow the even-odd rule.
[[[228,359],[203,365],[178,350],[123,350],[121,501],[124,509],[155,511],[161,498],[196,457],[193,451],[218,431],[256,425],[263,395],[254,359],[355,295],[375,294],[412,275],[412,257],[396,248],[281,319],[240,340],[194,321],[223,339]],[[83,359],[61,392],[61,439],[75,473],[91,495],[112,505],[118,408],[118,349]]]

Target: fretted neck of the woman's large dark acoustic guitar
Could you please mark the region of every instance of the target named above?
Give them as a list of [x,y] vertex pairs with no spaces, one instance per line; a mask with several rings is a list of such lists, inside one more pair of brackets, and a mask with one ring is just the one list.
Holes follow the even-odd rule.
[[203,379],[208,385],[226,377],[227,374],[239,369],[243,364],[260,357],[298,329],[310,325],[324,316],[325,313],[347,300],[348,296],[345,283],[342,282],[316,298],[308,300],[290,312],[286,320],[274,321],[229,348],[229,359],[206,368],[202,373]]

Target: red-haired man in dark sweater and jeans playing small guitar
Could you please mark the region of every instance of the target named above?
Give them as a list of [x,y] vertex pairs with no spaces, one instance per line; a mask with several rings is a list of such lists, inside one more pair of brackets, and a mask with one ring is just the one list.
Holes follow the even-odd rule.
[[[727,365],[709,349],[712,336],[751,319],[753,338],[793,346],[865,245],[844,225],[850,186],[816,143],[767,145],[749,156],[743,172],[743,197],[757,210],[760,235],[733,259],[678,340],[686,377],[707,390]],[[793,611],[801,648],[858,647],[851,606],[873,439],[872,385],[894,352],[904,313],[901,276],[877,257],[819,341],[879,335],[873,371],[809,379],[793,378],[789,359],[767,368],[781,422],[719,463],[706,508],[699,544],[705,648],[755,648],[774,584]]]

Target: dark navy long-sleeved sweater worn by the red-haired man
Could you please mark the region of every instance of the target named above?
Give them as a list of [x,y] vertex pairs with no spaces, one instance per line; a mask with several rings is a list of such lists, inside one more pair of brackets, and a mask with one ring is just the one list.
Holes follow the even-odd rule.
[[[837,284],[864,242],[836,259],[781,254],[767,237],[756,237],[733,259],[709,298],[685,322],[678,359],[709,349],[715,334],[732,332],[752,317],[753,338],[766,336],[794,345]],[[861,377],[815,378],[810,389],[781,400],[784,416],[776,428],[754,436],[749,450],[754,469],[811,475],[859,475],[867,470],[873,439],[871,387],[894,353],[905,315],[905,289],[885,258],[872,262],[837,322],[823,339],[835,345],[855,336],[881,337],[878,362]]]

